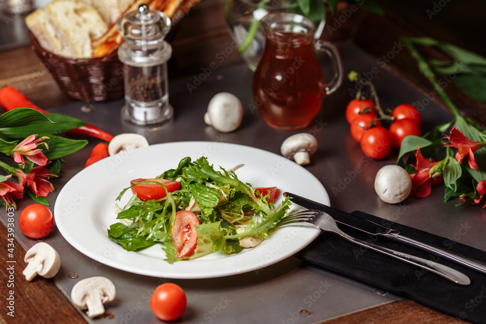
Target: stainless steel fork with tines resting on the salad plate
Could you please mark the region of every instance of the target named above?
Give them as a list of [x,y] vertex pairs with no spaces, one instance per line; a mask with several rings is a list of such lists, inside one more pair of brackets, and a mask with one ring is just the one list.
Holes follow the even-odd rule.
[[467,286],[471,283],[471,280],[467,275],[455,269],[447,267],[443,264],[431,260],[423,259],[421,257],[411,256],[409,254],[401,253],[388,248],[384,248],[382,246],[373,243],[368,243],[360,239],[355,239],[352,236],[347,235],[346,233],[341,231],[337,226],[336,222],[334,221],[334,219],[329,214],[323,211],[311,209],[311,210],[304,210],[301,212],[297,212],[282,218],[282,220],[278,223],[278,226],[291,224],[295,222],[299,222],[299,223],[303,222],[306,224],[311,224],[312,226],[317,227],[325,232],[335,233],[337,235],[340,235],[344,239],[347,239],[348,241],[359,244],[368,249],[386,254],[388,256],[392,256],[399,260],[416,265],[417,267],[426,269],[432,273],[436,273],[446,279],[451,280],[452,282],[455,282],[456,284]]

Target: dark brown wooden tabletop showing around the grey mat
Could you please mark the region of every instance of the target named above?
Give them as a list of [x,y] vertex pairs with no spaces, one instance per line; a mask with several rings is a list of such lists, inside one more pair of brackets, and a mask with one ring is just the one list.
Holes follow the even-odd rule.
[[[222,18],[223,5],[223,0],[202,0],[191,9],[189,17],[184,21],[172,43],[174,54],[170,66],[171,75],[199,72],[201,67],[206,66],[208,62],[214,59],[215,49],[224,49],[231,42]],[[340,9],[345,8],[345,6],[345,4],[340,4]],[[332,21],[332,18],[330,16],[328,21]],[[359,10],[347,19],[343,27],[339,28],[336,33],[331,35],[325,32],[323,38],[331,41],[351,39],[366,51],[381,56],[383,52],[389,51],[390,45],[393,44],[399,34],[419,33],[392,13],[388,13],[386,17],[377,17]],[[239,62],[241,62],[241,58],[234,51],[222,65],[230,66]],[[415,68],[416,63],[408,57],[405,51],[399,52],[389,63],[389,66],[395,73],[409,80],[410,84],[421,89],[424,93],[432,91],[431,85],[418,73],[417,68]],[[72,102],[72,99],[59,90],[49,72],[42,67],[29,46],[0,52],[0,71],[1,85],[9,84],[17,87],[33,102],[47,110],[50,107]],[[486,106],[484,104],[465,98],[452,86],[447,91],[452,100],[458,102],[458,106],[462,107],[462,112],[465,115],[479,123],[486,122]],[[1,225],[0,237],[2,242],[7,241],[6,233],[5,226]],[[21,248],[18,241],[15,244],[17,249]],[[2,253],[0,258],[1,263],[5,264],[6,254]],[[25,264],[19,259],[16,267],[23,269]],[[1,277],[6,280],[5,273],[5,271],[2,271]],[[6,283],[3,284],[6,287]],[[59,319],[58,323],[86,323],[76,308],[71,305],[69,299],[49,280],[35,280],[29,283],[18,278],[15,282],[15,289],[16,296],[18,296],[16,299],[16,317],[15,319],[10,318],[2,310],[0,319],[4,323],[44,323],[42,319],[52,315],[50,309],[56,309],[55,317]],[[19,296],[23,297],[19,298]],[[450,316],[404,299],[332,319],[326,323],[456,322],[457,320]]]

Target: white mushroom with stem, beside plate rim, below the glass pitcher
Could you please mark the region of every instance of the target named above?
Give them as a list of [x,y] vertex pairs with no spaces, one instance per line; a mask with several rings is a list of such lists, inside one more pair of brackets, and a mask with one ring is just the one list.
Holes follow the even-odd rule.
[[317,139],[309,133],[299,133],[285,139],[280,152],[298,165],[311,163],[310,156],[317,151]]

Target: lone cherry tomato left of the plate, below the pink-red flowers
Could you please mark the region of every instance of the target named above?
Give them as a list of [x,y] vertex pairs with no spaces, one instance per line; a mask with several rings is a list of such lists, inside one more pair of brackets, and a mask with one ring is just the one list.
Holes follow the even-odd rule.
[[18,217],[18,227],[31,239],[41,239],[52,231],[54,218],[44,205],[33,204],[25,207]]

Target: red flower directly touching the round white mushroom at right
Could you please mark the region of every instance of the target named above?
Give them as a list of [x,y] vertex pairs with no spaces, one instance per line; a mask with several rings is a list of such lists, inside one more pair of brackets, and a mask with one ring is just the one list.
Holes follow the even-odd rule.
[[412,179],[412,191],[410,194],[423,198],[430,195],[432,186],[442,181],[442,174],[437,172],[432,175],[430,174],[432,167],[439,164],[440,161],[435,162],[432,158],[424,158],[422,153],[420,153],[420,147],[418,147],[415,157],[417,158],[417,165],[414,168],[417,172],[410,174],[410,178]]

